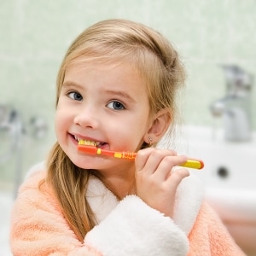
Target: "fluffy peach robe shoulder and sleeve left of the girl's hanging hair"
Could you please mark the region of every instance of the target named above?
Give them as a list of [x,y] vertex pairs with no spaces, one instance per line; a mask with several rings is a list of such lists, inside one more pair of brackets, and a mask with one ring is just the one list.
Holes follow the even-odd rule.
[[[67,223],[44,165],[32,167],[20,186],[10,221],[14,255],[98,255],[83,246]],[[91,253],[90,253],[91,251]],[[93,252],[92,252],[93,251]]]

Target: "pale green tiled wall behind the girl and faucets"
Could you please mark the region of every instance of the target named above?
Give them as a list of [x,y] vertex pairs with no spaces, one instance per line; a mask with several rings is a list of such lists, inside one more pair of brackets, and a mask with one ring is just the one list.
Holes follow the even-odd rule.
[[[255,14],[254,0],[2,0],[0,105],[19,111],[24,133],[22,162],[16,166],[15,152],[0,161],[1,179],[14,177],[18,169],[26,172],[54,143],[56,73],[68,45],[85,27],[98,20],[127,18],[164,33],[188,70],[181,100],[184,122],[212,125],[209,105],[224,96],[224,73],[218,65],[236,64],[256,77]],[[254,109],[255,88],[252,98]],[[45,119],[46,137],[31,136],[33,117]],[[0,155],[9,147],[9,140],[3,141]]]

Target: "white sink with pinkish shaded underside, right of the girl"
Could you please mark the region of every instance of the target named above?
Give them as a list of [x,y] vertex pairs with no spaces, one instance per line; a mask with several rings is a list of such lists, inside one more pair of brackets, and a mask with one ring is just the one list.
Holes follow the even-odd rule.
[[256,255],[256,132],[240,143],[212,127],[186,126],[182,134],[177,152],[204,161],[191,173],[205,184],[206,200],[239,246]]

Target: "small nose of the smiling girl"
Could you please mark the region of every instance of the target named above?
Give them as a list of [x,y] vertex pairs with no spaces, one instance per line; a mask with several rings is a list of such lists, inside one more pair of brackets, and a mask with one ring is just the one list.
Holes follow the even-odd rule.
[[74,117],[74,123],[83,128],[96,129],[99,126],[99,113],[96,108],[89,106],[79,108],[78,113]]

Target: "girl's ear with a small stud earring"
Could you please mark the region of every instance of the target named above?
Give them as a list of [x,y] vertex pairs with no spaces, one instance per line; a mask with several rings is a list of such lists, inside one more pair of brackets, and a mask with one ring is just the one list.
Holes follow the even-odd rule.
[[144,141],[148,143],[148,137],[152,138],[152,143],[157,143],[164,136],[172,121],[172,114],[169,109],[161,109],[154,115],[152,125],[144,136]]

